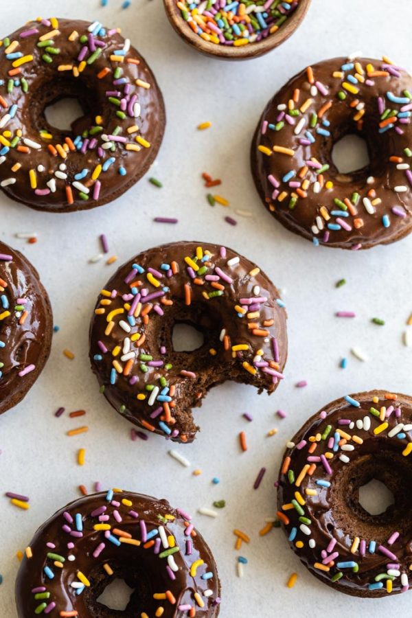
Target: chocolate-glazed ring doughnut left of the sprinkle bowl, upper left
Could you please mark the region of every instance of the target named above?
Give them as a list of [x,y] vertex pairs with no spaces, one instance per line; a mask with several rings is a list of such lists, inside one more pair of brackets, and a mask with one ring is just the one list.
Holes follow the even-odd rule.
[[[24,82],[15,85],[12,92],[8,91],[10,80],[8,71],[13,70],[12,62],[16,60],[6,57],[5,52],[9,49],[8,47],[3,45],[0,48],[0,79],[4,80],[4,85],[0,87],[0,95],[5,102],[5,106],[0,108],[0,124],[2,124],[2,130],[12,133],[9,141],[12,141],[12,138],[21,131],[19,143],[10,147],[8,152],[0,152],[0,155],[5,157],[5,159],[0,159],[3,160],[0,165],[0,187],[1,183],[8,179],[15,180],[13,184],[1,188],[10,198],[39,210],[68,212],[92,208],[113,201],[148,170],[163,138],[165,127],[163,98],[146,61],[134,47],[128,49],[130,41],[125,40],[117,30],[104,30],[103,34],[100,31],[92,36],[89,32],[90,25],[86,21],[59,19],[57,28],[54,28],[49,20],[31,21],[10,35],[12,45],[13,41],[18,42],[18,45],[12,48],[13,54],[33,56],[31,62],[16,67],[21,69],[21,72],[14,76],[14,79],[26,80],[27,93],[23,91],[21,85]],[[37,32],[25,36],[24,33],[32,30]],[[53,41],[52,49],[59,51],[57,54],[49,54],[52,62],[48,64],[42,58],[48,48],[38,47],[38,42],[47,32],[56,30],[57,34],[53,34],[50,40]],[[77,32],[78,36],[74,41],[69,41],[73,32]],[[91,43],[88,41],[82,43],[82,36],[91,36]],[[96,49],[102,49],[102,54],[97,60],[87,64],[93,54],[91,51],[93,46]],[[124,56],[116,56],[115,52],[120,50],[122,53],[124,49],[126,49]],[[83,56],[84,60],[78,59]],[[113,60],[113,56],[117,59],[125,58],[125,60],[119,62]],[[137,64],[128,62],[129,60],[136,61]],[[84,68],[81,62],[85,65]],[[67,66],[73,66],[74,69],[58,70],[58,67]],[[106,76],[98,78],[98,74],[104,69],[110,69],[110,71]],[[114,76],[116,69],[122,70],[122,75],[117,79]],[[113,80],[117,83],[113,84]],[[139,83],[143,82],[143,85],[136,84],[136,80],[141,80]],[[117,115],[123,107],[110,102],[108,93],[111,93],[115,99],[124,101],[124,113],[126,114],[124,119]],[[67,97],[78,98],[84,110],[84,117],[73,122],[69,132],[50,126],[45,117],[47,106]],[[135,102],[139,104],[139,109],[135,107]],[[17,107],[13,108],[13,106]],[[13,113],[14,110],[14,117],[5,122],[6,115]],[[98,126],[96,123],[98,116],[102,117],[100,125],[102,130],[100,133],[93,133],[99,131],[99,128],[93,129]],[[127,129],[135,125],[139,127],[139,131],[129,134]],[[65,159],[56,154],[56,151],[52,154],[47,148],[49,144],[53,146],[65,144],[67,137],[75,141],[78,136],[87,136],[89,130],[92,130],[93,135],[81,137],[79,149],[74,151],[68,149]],[[42,137],[41,131],[52,135],[52,139]],[[111,140],[114,144],[113,150],[99,151],[101,146],[108,143],[106,136],[113,134],[125,141]],[[143,137],[150,147],[137,144],[135,141],[137,136]],[[36,149],[30,146],[28,153],[19,152],[17,148],[25,146],[24,139],[36,142],[41,148]],[[126,150],[129,144],[139,147],[139,152]],[[90,149],[90,146],[93,148]],[[0,148],[3,146],[0,145]],[[110,167],[100,172],[98,179],[92,179],[96,166],[104,165],[111,157],[114,157],[115,161]],[[18,170],[14,168],[16,163],[21,165]],[[39,171],[38,165],[43,166],[44,170]],[[60,165],[66,165],[67,168],[60,170]],[[126,175],[120,174],[120,168],[124,168]],[[30,185],[30,170],[36,172],[35,189]],[[82,170],[87,170],[87,176],[76,180],[76,174],[81,174]],[[67,174],[67,178],[56,177],[56,172],[60,176],[62,173]],[[50,181],[52,181],[51,184]],[[80,182],[87,187],[88,200],[82,199],[80,195],[82,190],[76,188],[73,182]],[[55,190],[54,183],[56,183]],[[95,188],[97,183],[101,183],[98,196],[94,193],[95,190],[97,191]],[[72,190],[72,204],[69,204],[67,198],[67,185]],[[44,194],[47,191],[48,193]]]

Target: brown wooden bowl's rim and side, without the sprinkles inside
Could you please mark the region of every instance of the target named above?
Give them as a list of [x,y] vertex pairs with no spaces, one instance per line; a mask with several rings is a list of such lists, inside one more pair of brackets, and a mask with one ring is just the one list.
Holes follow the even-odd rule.
[[301,21],[304,20],[308,12],[310,0],[300,0],[295,12],[288,17],[277,32],[269,34],[266,38],[263,38],[262,41],[248,43],[248,45],[241,45],[240,47],[217,45],[216,43],[211,43],[211,41],[204,41],[201,36],[193,32],[192,28],[187,25],[187,22],[183,19],[181,11],[177,6],[177,0],[163,0],[163,3],[170,23],[177,34],[183,38],[185,43],[192,45],[198,52],[202,52],[202,54],[206,54],[207,56],[213,56],[214,58],[245,60],[267,54],[271,49],[274,49],[286,41],[286,38],[289,38],[297,27],[299,27]]

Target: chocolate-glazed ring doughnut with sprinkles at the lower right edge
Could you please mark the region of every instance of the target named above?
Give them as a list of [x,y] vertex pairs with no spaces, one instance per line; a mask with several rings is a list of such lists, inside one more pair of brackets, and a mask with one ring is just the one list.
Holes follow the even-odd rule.
[[[319,580],[343,593],[361,597],[387,595],[386,579],[381,580],[382,588],[370,589],[369,584],[376,584],[375,577],[387,573],[388,564],[398,564],[399,567],[391,568],[400,571],[401,574],[407,574],[403,575],[404,582],[401,582],[400,575],[393,578],[392,594],[406,592],[412,586],[409,580],[409,569],[412,565],[412,495],[409,490],[412,481],[412,455],[409,455],[408,450],[405,451],[407,445],[412,442],[412,398],[397,395],[394,400],[393,395],[389,398],[388,394],[390,393],[387,391],[358,393],[351,397],[360,404],[360,407],[354,407],[343,398],[325,407],[324,417],[321,416],[321,412],[312,416],[293,437],[292,443],[295,446],[286,449],[279,477],[277,494],[279,518],[290,540],[290,547],[310,573],[316,575]],[[374,402],[375,397],[378,401]],[[373,408],[381,412],[382,407],[386,407],[389,413],[389,417],[385,415],[388,426],[386,428],[384,426],[383,431],[379,433],[378,430],[376,433],[376,428],[382,425],[382,420],[371,414],[370,410]],[[371,422],[369,429],[363,424],[365,417]],[[354,426],[340,423],[342,420],[349,420]],[[407,427],[402,431],[400,426],[397,435],[390,437],[389,432],[398,424]],[[328,426],[330,431],[323,439],[321,436]],[[339,435],[339,441],[346,439],[347,442],[345,444],[342,442],[341,447],[334,452],[328,442],[330,439],[334,442],[336,430],[352,437],[349,439],[345,435]],[[313,444],[313,436],[317,436],[314,440],[317,447],[309,453],[308,448]],[[360,443],[356,436],[363,442]],[[303,441],[306,441],[306,444]],[[343,450],[342,446],[346,448],[354,446],[354,450]],[[327,459],[332,469],[331,474],[328,474],[322,461],[313,459],[308,461],[308,457],[317,458],[325,453],[333,455]],[[342,456],[348,457],[350,461],[343,461],[340,459]],[[290,457],[290,462],[287,457]],[[301,470],[306,465],[312,465],[314,468],[308,470],[299,482]],[[290,470],[295,475],[293,482],[288,478]],[[393,505],[379,515],[369,514],[359,503],[358,490],[371,479],[385,483],[394,496]],[[327,481],[330,487],[322,487],[317,481]],[[315,490],[317,494],[309,495],[306,493],[307,490]],[[303,516],[311,521],[308,524],[309,535],[301,530],[299,520],[301,513],[293,507],[291,510],[284,507],[299,499],[296,492],[300,492],[305,501],[301,508],[304,510]],[[297,529],[297,534],[295,538],[290,539],[290,534],[292,537],[294,534],[293,529]],[[395,531],[399,536],[392,542],[391,535]],[[356,537],[361,541],[358,549],[352,546]],[[330,547],[326,554],[322,553],[323,550],[326,551],[332,539],[336,542],[334,547]],[[311,548],[309,543],[313,541],[316,545]],[[361,555],[363,541],[366,542],[365,553]],[[374,553],[369,549],[370,541],[376,542]],[[296,544],[299,542],[303,542],[304,547],[297,547]],[[393,556],[385,555],[381,547],[389,550]],[[339,556],[332,556],[334,552],[339,552]],[[314,567],[315,563],[322,563],[329,556],[332,556],[333,560],[332,563],[327,560],[326,566],[333,565],[329,571],[321,571]],[[341,562],[352,561],[358,564],[358,572],[353,572],[352,568],[338,567]],[[343,576],[338,581],[332,582],[332,577],[339,571]]]

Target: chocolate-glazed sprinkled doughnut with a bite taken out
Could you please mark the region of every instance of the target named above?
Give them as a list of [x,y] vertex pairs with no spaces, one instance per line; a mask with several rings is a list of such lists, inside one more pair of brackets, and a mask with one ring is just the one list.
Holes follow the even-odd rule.
[[[206,266],[207,270],[194,278],[194,271],[190,272],[185,258],[196,260],[198,247],[202,248],[202,255],[209,251],[210,258],[202,263],[199,260],[201,268]],[[236,264],[230,264],[233,258]],[[162,268],[162,264],[173,268],[172,262],[176,263],[178,271],[174,275],[172,270]],[[133,272],[133,264],[144,272],[139,273],[137,268]],[[155,283],[148,281],[148,277],[152,277],[150,268],[155,269]],[[162,293],[163,286],[170,291]],[[186,304],[185,286],[190,289],[190,305]],[[178,442],[192,442],[198,428],[193,422],[191,408],[201,405],[203,396],[212,386],[236,380],[271,393],[279,382],[276,376],[282,378],[279,372],[286,363],[287,337],[286,312],[277,304],[279,293],[253,262],[235,251],[226,249],[226,256],[222,257],[220,247],[215,244],[165,244],[144,251],[121,266],[104,289],[91,322],[91,366],[108,401],[131,422]],[[125,332],[120,322],[127,322],[128,311],[140,310],[133,292],[143,294],[141,312],[146,313],[150,308],[145,301],[146,293],[152,308],[146,317],[139,314],[130,332]],[[152,297],[154,293],[157,297]],[[209,298],[209,293],[222,295]],[[252,297],[260,299],[258,304],[250,304]],[[247,301],[242,303],[243,299]],[[124,309],[125,301],[134,302],[133,308],[111,314],[113,310]],[[243,317],[239,317],[240,312]],[[203,332],[205,343],[198,350],[173,350],[172,330],[179,322],[192,324]],[[251,329],[252,323],[258,332],[265,331],[264,336]],[[112,328],[111,332],[107,328]],[[134,354],[131,354],[133,361],[129,361],[127,354],[130,356],[130,352],[127,352],[128,347],[124,348],[124,342],[135,333],[140,333],[141,339],[131,343],[130,351]],[[221,341],[222,336],[227,338]],[[117,345],[119,348],[115,350]],[[247,350],[233,351],[232,346],[236,345],[245,345]],[[165,353],[161,352],[162,346],[165,346]],[[125,349],[126,357],[122,360]],[[144,357],[143,363],[141,354],[149,355]],[[113,361],[115,364],[119,361],[117,369]],[[126,370],[127,376],[119,373],[130,362],[132,367]],[[168,363],[172,367],[168,367]],[[192,373],[185,374],[185,371]],[[111,383],[111,376],[115,376],[115,383]],[[162,396],[150,400],[152,391],[147,389],[150,385],[159,387],[159,396],[164,387],[171,391],[163,401]]]

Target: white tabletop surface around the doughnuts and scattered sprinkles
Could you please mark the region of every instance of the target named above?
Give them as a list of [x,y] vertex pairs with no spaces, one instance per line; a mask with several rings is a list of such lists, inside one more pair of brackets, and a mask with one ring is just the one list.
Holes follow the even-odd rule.
[[[78,496],[80,483],[91,490],[97,480],[104,486],[165,496],[193,512],[210,507],[214,500],[227,501],[218,518],[196,517],[219,565],[222,618],[251,613],[262,618],[277,613],[312,618],[329,610],[345,618],[360,613],[410,615],[411,593],[376,601],[341,595],[301,567],[282,531],[260,538],[258,530],[275,512],[273,482],[284,443],[308,415],[353,391],[385,388],[411,393],[412,348],[402,345],[402,332],[412,310],[412,236],[361,253],[314,249],[262,207],[249,172],[249,145],[268,98],[310,62],[361,48],[365,55],[388,54],[408,67],[412,3],[392,0],[385,16],[384,5],[376,0],[314,0],[304,24],[282,47],[240,63],[211,60],[184,45],[168,24],[161,0],[133,0],[123,11],[120,5],[121,0],[109,0],[104,9],[98,0],[1,2],[2,35],[38,13],[119,25],[150,61],[168,112],[165,140],[151,172],[163,181],[162,190],[146,177],[111,205],[69,215],[35,212],[0,196],[1,238],[24,251],[38,268],[60,325],[41,378],[23,403],[0,418],[0,493],[12,490],[31,498],[29,512],[0,498],[1,618],[16,617],[16,550],[24,549],[54,510]],[[197,124],[206,120],[213,126],[197,131]],[[222,178],[218,192],[229,199],[228,209],[207,204],[200,178],[204,170]],[[253,220],[236,215],[236,208],[251,210]],[[227,214],[238,219],[236,227],[224,222]],[[154,216],[178,216],[179,224],[156,224]],[[38,243],[17,240],[14,234],[19,231],[38,232]],[[88,263],[100,251],[102,232],[111,253],[119,256],[112,266]],[[89,319],[106,279],[142,249],[179,239],[226,243],[247,255],[284,290],[289,314],[284,384],[271,398],[258,397],[254,389],[241,385],[214,389],[196,411],[201,435],[195,444],[176,447],[190,459],[190,468],[168,455],[170,444],[161,437],[130,441],[130,425],[99,396],[87,358]],[[341,277],[347,285],[336,290]],[[356,319],[337,319],[334,312],[340,309],[356,311]],[[386,325],[372,324],[374,316],[385,319]],[[350,354],[356,345],[367,353],[368,363]],[[74,361],[62,355],[65,347],[76,354]],[[348,358],[345,370],[338,366],[342,356]],[[301,379],[308,380],[306,389],[295,388]],[[56,419],[58,406],[86,409],[89,433],[67,437],[65,432],[82,425],[84,418]],[[287,411],[286,420],[274,416],[278,408]],[[252,423],[241,416],[245,411],[253,414]],[[273,427],[279,433],[266,437]],[[247,432],[247,453],[240,453],[242,430]],[[80,447],[87,449],[83,468],[76,464]],[[254,491],[262,466],[268,471]],[[194,477],[197,467],[203,474]],[[220,477],[219,485],[211,484],[214,476]],[[250,545],[240,552],[249,560],[243,580],[236,576],[234,527],[251,536]],[[285,582],[292,571],[299,578],[289,590]]]

